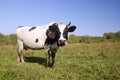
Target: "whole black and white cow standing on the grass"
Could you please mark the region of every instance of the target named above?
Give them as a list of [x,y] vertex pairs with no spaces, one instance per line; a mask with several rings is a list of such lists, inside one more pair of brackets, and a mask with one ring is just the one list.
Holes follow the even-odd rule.
[[[48,25],[29,27],[19,26],[16,31],[18,41],[18,62],[24,63],[23,49],[45,49],[46,67],[50,63],[50,55],[52,57],[52,65],[54,65],[55,53],[59,46],[67,44],[68,32],[73,32],[76,26],[70,26],[64,23],[49,23]],[[69,27],[70,26],[70,27]]]

